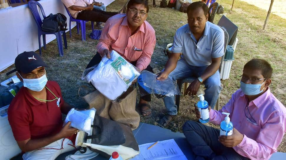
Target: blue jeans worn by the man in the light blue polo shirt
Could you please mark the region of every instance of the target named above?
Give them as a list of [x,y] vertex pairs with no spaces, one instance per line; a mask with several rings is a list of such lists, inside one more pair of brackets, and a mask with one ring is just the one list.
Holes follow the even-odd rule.
[[[189,77],[200,77],[208,66],[196,67],[189,65],[183,58],[178,60],[176,68],[169,74],[172,80],[178,80]],[[205,85],[205,100],[211,108],[214,108],[218,99],[219,92],[221,91],[221,78],[219,72],[216,71],[211,77],[206,79],[203,84]],[[175,105],[175,96],[164,98],[167,113],[170,115],[177,115],[177,105]]]

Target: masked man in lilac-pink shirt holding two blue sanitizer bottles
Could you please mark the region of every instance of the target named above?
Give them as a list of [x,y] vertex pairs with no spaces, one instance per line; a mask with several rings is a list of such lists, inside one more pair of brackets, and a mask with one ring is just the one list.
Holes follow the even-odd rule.
[[[233,133],[220,136],[220,130],[187,121],[183,132],[195,159],[268,160],[286,132],[286,109],[270,92],[272,68],[262,59],[244,65],[240,89],[216,111],[209,107],[210,122],[219,125],[230,113]],[[200,117],[198,108],[195,109]]]

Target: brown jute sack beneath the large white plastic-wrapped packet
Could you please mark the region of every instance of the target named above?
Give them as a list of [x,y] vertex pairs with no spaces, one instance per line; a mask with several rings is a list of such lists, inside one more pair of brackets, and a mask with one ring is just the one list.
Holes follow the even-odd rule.
[[140,122],[140,116],[135,110],[136,96],[136,88],[130,86],[116,101],[104,97],[98,90],[85,95],[83,99],[89,108],[96,109],[96,115],[120,122],[134,130]]

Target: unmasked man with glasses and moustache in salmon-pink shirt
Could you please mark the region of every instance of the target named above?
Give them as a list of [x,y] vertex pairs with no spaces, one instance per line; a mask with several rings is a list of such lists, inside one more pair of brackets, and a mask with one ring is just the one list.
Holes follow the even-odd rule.
[[[87,68],[100,62],[104,55],[110,58],[110,51],[115,50],[123,58],[140,70],[153,72],[149,65],[153,54],[156,37],[152,26],[146,21],[149,6],[146,0],[130,0],[126,14],[118,14],[106,21],[96,48],[96,54]],[[143,116],[151,116],[148,107],[151,96],[140,98],[139,107]]]

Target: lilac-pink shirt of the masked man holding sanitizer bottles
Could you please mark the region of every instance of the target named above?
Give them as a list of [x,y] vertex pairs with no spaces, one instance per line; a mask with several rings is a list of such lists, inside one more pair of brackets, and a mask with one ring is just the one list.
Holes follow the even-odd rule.
[[240,89],[237,90],[221,110],[210,111],[210,122],[220,124],[225,118],[222,112],[230,113],[234,128],[244,134],[241,143],[233,147],[238,154],[251,160],[267,160],[277,151],[286,132],[286,109],[270,92],[269,87],[250,102]]

